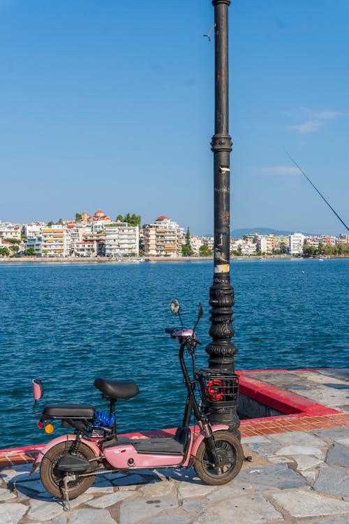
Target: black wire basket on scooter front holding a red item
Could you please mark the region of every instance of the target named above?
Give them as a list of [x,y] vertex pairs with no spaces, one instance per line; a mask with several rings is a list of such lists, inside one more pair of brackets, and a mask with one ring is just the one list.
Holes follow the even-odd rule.
[[232,407],[237,405],[239,377],[231,371],[203,368],[195,378],[200,384],[202,404],[209,407]]

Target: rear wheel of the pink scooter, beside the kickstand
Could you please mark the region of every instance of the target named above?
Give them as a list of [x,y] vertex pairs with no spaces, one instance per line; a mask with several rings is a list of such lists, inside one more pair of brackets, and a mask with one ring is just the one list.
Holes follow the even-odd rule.
[[[40,467],[40,479],[43,483],[44,488],[51,493],[54,497],[63,498],[64,497],[64,476],[67,474],[66,472],[62,472],[57,470],[57,463],[59,462],[59,459],[64,456],[68,451],[70,450],[71,446],[73,445],[72,440],[69,440],[67,442],[60,442],[59,444],[56,444],[51,449],[47,451],[45,456],[43,457],[43,460],[41,461],[41,467]],[[77,451],[77,456],[81,458],[85,458],[87,460],[91,460],[91,466],[90,469],[94,470],[97,466],[97,460],[96,455],[94,452],[89,448],[89,446],[86,446],[85,444],[80,443],[79,449]],[[84,473],[88,473],[84,472]],[[69,472],[68,474],[74,474],[74,472]],[[76,474],[76,480],[70,481],[68,483],[68,495],[69,499],[75,499],[84,491],[86,491],[91,484],[94,482],[94,477],[96,475],[91,476],[79,476],[79,474]]]

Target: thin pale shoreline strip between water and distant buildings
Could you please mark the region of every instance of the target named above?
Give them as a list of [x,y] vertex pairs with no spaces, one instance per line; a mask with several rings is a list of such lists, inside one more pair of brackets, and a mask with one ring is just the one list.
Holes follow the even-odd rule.
[[[318,260],[322,259],[348,259],[349,256],[335,256],[326,255],[323,257],[304,257],[304,256],[291,256],[291,255],[267,255],[267,256],[230,256],[230,261],[235,260]],[[139,262],[195,262],[195,261],[213,261],[213,256],[132,256],[132,257],[119,257],[110,258],[106,256],[90,256],[90,257],[36,257],[36,256],[21,256],[21,257],[1,257],[0,263],[139,263]]]

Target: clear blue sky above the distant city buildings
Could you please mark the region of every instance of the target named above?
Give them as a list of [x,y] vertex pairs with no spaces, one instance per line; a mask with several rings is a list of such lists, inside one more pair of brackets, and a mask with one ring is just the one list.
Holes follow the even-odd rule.
[[[344,231],[348,0],[235,0],[232,227]],[[213,231],[209,0],[0,0],[0,220],[160,214]]]

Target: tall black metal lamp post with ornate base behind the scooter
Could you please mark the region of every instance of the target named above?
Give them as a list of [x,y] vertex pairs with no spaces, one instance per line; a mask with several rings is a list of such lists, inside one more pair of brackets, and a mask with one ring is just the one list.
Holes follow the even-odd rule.
[[[212,340],[206,347],[209,367],[235,371],[234,355],[237,347],[232,342],[232,306],[234,290],[230,285],[230,152],[228,106],[228,8],[230,0],[212,0],[214,6],[215,45],[215,110],[214,136],[214,281],[209,289],[211,305]],[[210,408],[211,423],[225,423],[238,437],[239,417],[235,407]]]

